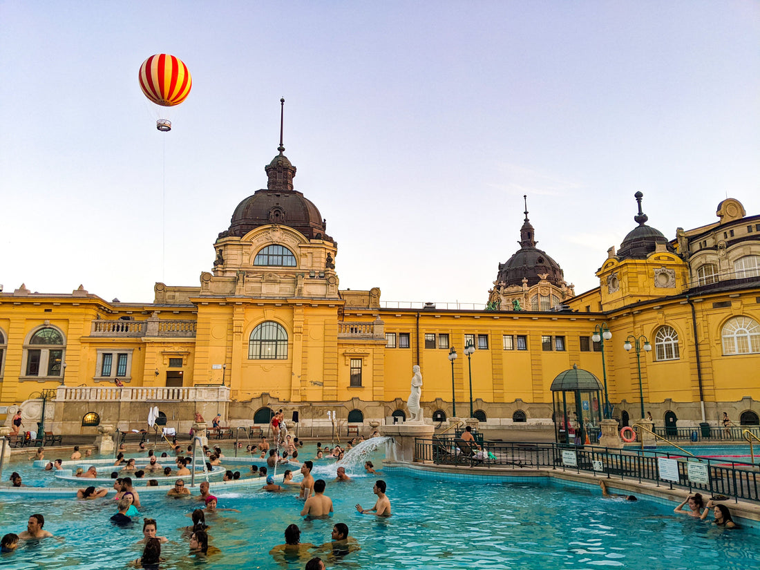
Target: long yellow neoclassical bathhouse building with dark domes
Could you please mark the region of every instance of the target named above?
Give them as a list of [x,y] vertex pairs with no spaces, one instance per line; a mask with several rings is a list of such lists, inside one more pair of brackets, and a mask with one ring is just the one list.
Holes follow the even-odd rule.
[[267,188],[236,207],[197,287],[157,283],[149,305],[82,287],[0,293],[6,424],[21,406],[27,426],[44,409],[57,432],[136,429],[158,406],[179,429],[195,410],[250,426],[276,408],[312,428],[328,411],[369,425],[407,415],[414,365],[425,416],[439,421],[548,426],[553,379],[577,365],[603,379],[622,423],[642,410],[672,425],[717,425],[724,411],[758,422],[760,216],[739,201],[669,240],[646,224],[637,193],[638,225],[600,255],[600,286],[578,296],[537,249],[526,207],[520,249],[484,284],[484,309],[391,309],[378,288],[340,290],[337,242],[278,150]]

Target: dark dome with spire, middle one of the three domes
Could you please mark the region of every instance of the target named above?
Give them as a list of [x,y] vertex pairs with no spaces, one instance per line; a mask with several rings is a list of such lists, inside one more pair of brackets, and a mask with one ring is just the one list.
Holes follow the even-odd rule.
[[536,247],[535,232],[530,220],[527,219],[527,204],[525,207],[525,220],[520,230],[520,250],[512,255],[506,263],[499,264],[499,274],[496,283],[504,283],[505,286],[520,285],[522,280],[527,279],[527,286],[533,287],[546,274],[546,280],[556,287],[562,287],[565,283],[565,274],[559,264],[546,252]]

